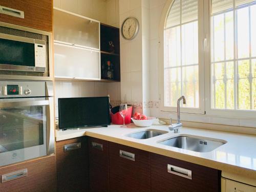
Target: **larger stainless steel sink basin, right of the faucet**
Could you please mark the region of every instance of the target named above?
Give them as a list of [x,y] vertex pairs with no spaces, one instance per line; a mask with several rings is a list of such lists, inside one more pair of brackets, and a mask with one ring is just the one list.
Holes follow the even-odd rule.
[[159,144],[184,148],[184,150],[190,150],[200,153],[211,152],[225,143],[226,141],[224,140],[200,138],[187,135],[180,135],[178,137],[170,138],[159,142]]

